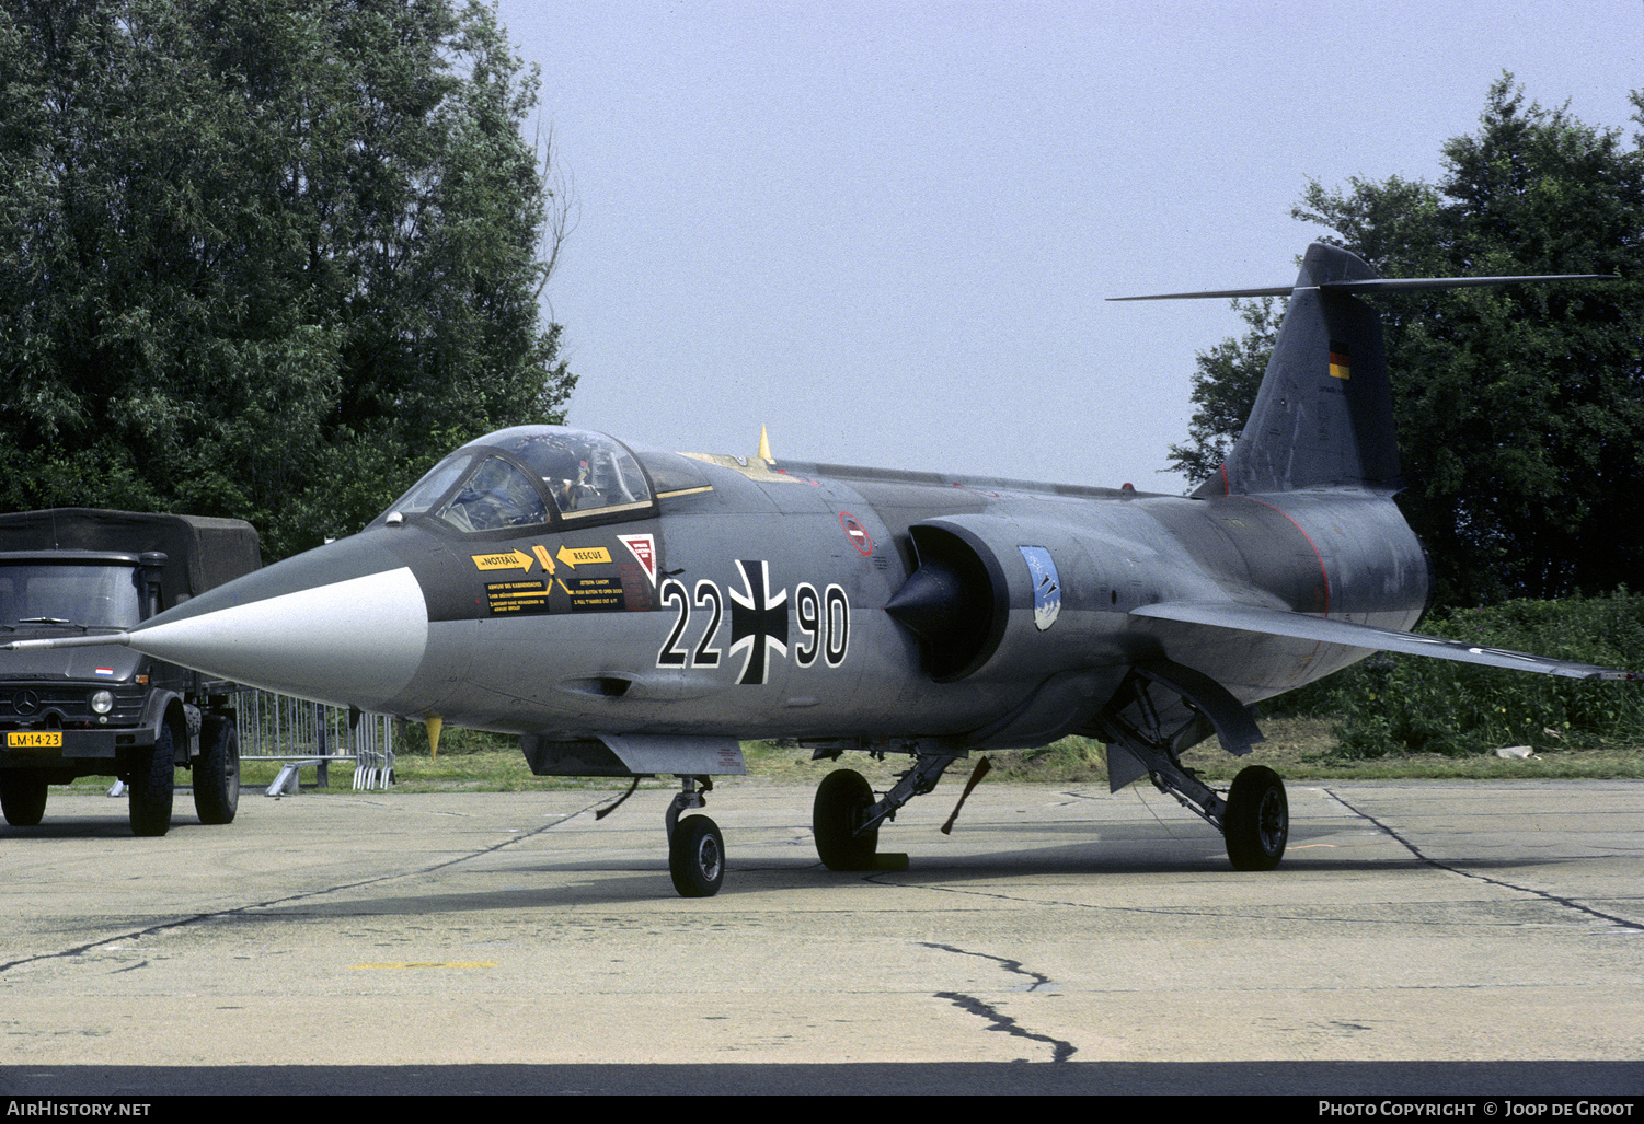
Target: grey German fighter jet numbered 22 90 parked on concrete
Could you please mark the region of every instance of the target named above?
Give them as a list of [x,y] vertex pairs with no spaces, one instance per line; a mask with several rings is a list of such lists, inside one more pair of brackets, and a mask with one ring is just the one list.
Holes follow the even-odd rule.
[[1314,245],[1294,286],[1169,294],[1289,297],[1249,422],[1190,496],[505,429],[360,534],[117,639],[434,736],[513,733],[543,776],[672,774],[686,896],[718,891],[725,848],[682,813],[743,772],[743,738],[909,758],[883,794],[852,769],[822,779],[830,869],[871,868],[881,825],[952,762],[1065,735],[1108,743],[1115,789],[1146,776],[1221,830],[1235,868],[1271,869],[1282,781],[1251,766],[1221,794],[1180,759],[1212,735],[1249,753],[1251,703],[1376,649],[1632,677],[1406,631],[1429,574],[1392,503],[1388,371],[1360,296],[1568,279],[1596,278],[1381,279]]

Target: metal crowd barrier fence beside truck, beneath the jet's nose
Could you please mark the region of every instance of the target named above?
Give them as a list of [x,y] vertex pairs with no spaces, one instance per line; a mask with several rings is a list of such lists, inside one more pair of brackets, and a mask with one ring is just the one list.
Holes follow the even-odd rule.
[[395,725],[388,715],[276,695],[250,687],[235,692],[240,761],[283,761],[268,795],[296,792],[301,771],[314,767],[317,784],[329,767],[353,762],[353,787],[386,790],[395,771]]

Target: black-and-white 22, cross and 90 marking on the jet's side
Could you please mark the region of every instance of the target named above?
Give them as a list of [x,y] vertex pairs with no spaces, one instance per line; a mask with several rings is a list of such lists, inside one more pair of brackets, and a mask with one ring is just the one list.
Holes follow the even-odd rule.
[[[723,590],[712,578],[700,578],[695,590],[679,578],[667,578],[658,590],[664,606],[674,610],[674,626],[656,652],[658,667],[718,667],[725,657],[720,644],[720,626],[725,621],[725,603],[730,601],[730,656],[741,656],[738,684],[763,684],[769,679],[771,661],[792,656],[799,667],[812,667],[817,661],[838,667],[850,652],[850,598],[838,585],[829,585],[820,593],[809,582],[792,588],[792,615],[797,638],[789,647],[789,590],[773,590],[769,564],[763,560],[738,560],[741,588]],[[699,628],[702,610],[707,623]]]

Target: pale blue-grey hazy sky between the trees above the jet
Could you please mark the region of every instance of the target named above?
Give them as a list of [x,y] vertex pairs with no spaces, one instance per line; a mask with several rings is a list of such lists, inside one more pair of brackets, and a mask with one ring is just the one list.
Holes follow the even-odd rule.
[[1307,181],[1437,182],[1503,71],[1628,138],[1644,87],[1644,0],[498,10],[579,204],[570,424],[1157,491],[1243,325],[1103,297],[1292,281]]

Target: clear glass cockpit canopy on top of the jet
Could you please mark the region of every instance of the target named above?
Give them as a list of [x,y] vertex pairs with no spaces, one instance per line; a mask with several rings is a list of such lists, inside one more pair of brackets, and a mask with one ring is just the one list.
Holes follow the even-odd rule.
[[432,516],[464,532],[605,523],[656,513],[635,455],[605,434],[518,426],[472,440],[399,496],[378,524]]

